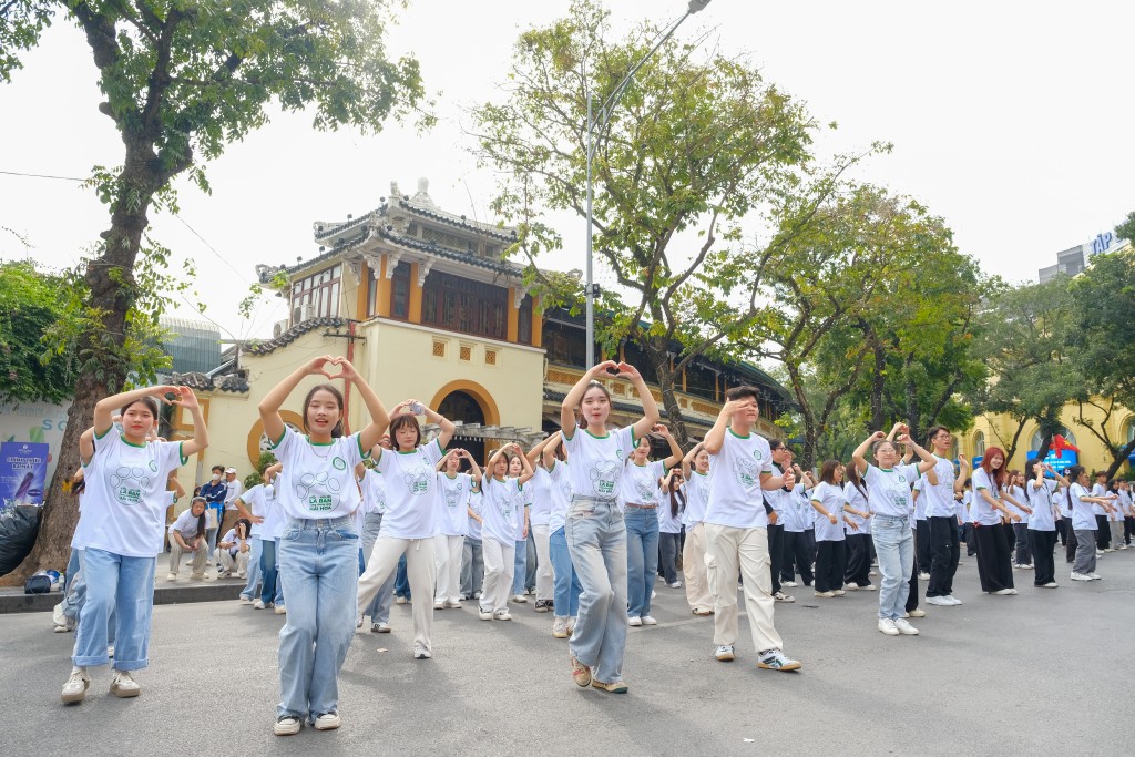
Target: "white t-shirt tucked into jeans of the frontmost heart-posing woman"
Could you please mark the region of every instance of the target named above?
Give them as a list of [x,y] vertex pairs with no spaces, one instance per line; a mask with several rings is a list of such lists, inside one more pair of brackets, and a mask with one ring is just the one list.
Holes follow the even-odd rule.
[[272,454],[284,464],[276,477],[276,498],[289,518],[345,518],[359,506],[361,495],[354,468],[368,453],[363,452],[358,434],[328,444],[312,444],[306,436],[284,427]]

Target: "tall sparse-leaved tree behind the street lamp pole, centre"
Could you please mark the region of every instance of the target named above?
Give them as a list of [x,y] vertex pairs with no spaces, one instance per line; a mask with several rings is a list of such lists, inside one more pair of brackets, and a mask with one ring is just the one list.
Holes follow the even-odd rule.
[[[521,34],[504,98],[473,113],[477,154],[502,175],[494,210],[518,228],[510,253],[528,255],[533,276],[538,255],[561,246],[544,215],[586,217],[589,99],[605,102],[659,33],[644,24],[613,42],[607,22],[599,2],[575,0],[565,18]],[[856,160],[818,166],[818,129],[743,58],[670,41],[596,135],[595,250],[628,294],[627,309],[597,322],[597,340],[642,347],[681,443],[682,370],[766,316],[763,270]],[[745,239],[758,226],[754,249]]]

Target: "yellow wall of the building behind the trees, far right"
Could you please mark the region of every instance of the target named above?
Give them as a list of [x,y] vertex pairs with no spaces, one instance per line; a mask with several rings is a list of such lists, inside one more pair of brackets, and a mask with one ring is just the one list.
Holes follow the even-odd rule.
[[[1107,401],[1096,399],[1099,404],[1107,406]],[[1109,438],[1118,444],[1127,441],[1127,429],[1135,423],[1135,413],[1126,407],[1116,406],[1111,418],[1104,422],[1105,413],[1093,405],[1084,405],[1084,420],[1094,424],[1096,429],[1107,429]],[[1103,446],[1092,431],[1079,422],[1081,406],[1076,403],[1065,405],[1060,413],[1060,422],[1076,437],[1075,446],[1079,448],[1079,463],[1088,470],[1107,469],[1111,464],[1111,454]],[[976,439],[978,431],[985,436],[985,446],[998,446],[1008,451],[1012,443],[1012,434],[1017,428],[1017,422],[1009,415],[991,414],[978,415],[974,421],[974,427],[961,435],[959,451],[973,456],[976,452]],[[1033,421],[1025,423],[1024,430],[1017,440],[1017,454],[1009,461],[1010,469],[1024,470],[1028,453],[1032,449],[1033,435],[1037,426]],[[1120,471],[1129,471],[1129,465]]]

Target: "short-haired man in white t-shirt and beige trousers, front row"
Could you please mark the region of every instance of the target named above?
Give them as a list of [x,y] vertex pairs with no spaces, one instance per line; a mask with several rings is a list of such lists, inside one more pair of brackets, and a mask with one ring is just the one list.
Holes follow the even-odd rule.
[[762,491],[793,486],[791,471],[773,476],[768,443],[754,432],[759,409],[758,392],[741,386],[730,389],[717,422],[706,434],[709,453],[709,503],[706,506],[706,565],[714,595],[714,656],[733,659],[738,637],[737,574],[745,589],[753,645],[758,667],[794,671],[800,663],[784,656],[773,626],[775,600],[768,570],[768,514]]

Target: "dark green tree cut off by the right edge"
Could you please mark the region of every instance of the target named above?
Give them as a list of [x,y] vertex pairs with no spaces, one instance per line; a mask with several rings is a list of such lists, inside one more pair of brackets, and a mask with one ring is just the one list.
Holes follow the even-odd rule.
[[[1135,236],[1135,213],[1128,217],[1125,238]],[[1119,227],[1120,229],[1123,226]],[[1096,424],[1084,418],[1088,429],[1111,454],[1108,477],[1135,453],[1135,439],[1113,438],[1108,421],[1123,409],[1135,409],[1135,250],[1127,249],[1092,258],[1092,266],[1069,283],[1074,328],[1075,362],[1091,390],[1083,404],[1103,413]]]

